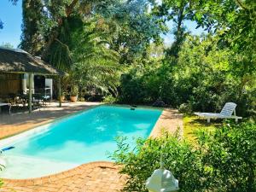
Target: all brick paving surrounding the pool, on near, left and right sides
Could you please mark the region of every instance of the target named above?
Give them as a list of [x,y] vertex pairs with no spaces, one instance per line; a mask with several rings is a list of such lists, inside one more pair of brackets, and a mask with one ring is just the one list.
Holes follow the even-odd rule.
[[[52,119],[90,108],[99,103],[64,103],[62,108],[50,107],[32,114],[19,113],[0,115],[0,138],[15,135],[32,129]],[[176,110],[166,108],[156,122],[150,137],[158,137],[161,131],[183,130],[182,115]],[[3,179],[0,192],[115,192],[125,184],[125,175],[119,174],[119,167],[111,162],[92,162],[72,170],[32,179]]]

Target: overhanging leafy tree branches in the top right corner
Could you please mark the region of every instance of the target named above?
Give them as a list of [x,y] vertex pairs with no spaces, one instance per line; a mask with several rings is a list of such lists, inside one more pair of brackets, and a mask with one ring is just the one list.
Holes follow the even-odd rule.
[[[218,33],[220,44],[230,47],[240,58],[233,63],[236,73],[252,74],[256,70],[256,3],[246,0],[201,1],[195,4],[198,26]],[[242,76],[242,75],[241,75]]]

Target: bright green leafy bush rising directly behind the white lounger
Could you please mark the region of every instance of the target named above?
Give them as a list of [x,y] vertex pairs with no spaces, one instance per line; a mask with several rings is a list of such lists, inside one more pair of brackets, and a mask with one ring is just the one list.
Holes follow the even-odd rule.
[[217,41],[218,37],[189,38],[183,44],[174,73],[177,93],[189,96],[186,99],[193,110],[219,111],[231,101],[238,104],[238,113],[246,115],[253,107],[254,79],[245,82],[243,76],[234,73],[232,64],[237,54],[219,49]]

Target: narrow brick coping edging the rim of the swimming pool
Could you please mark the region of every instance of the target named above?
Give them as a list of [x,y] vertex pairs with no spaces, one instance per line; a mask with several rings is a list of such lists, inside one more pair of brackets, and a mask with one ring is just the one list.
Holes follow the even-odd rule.
[[[83,110],[79,110],[78,112],[74,112],[74,113],[70,113],[70,114],[67,114],[67,115],[64,115],[64,116],[61,116],[59,118],[56,118],[56,119],[51,119],[51,120],[48,120],[48,121],[45,121],[44,123],[42,123],[41,125],[35,125],[35,126],[32,126],[31,128],[29,128],[28,130],[26,131],[21,131],[17,134],[14,134],[12,136],[9,136],[9,137],[15,137],[17,135],[20,135],[20,134],[23,134],[24,132],[28,132],[28,131],[35,131],[36,128],[38,127],[41,127],[41,126],[44,126],[44,125],[48,125],[48,124],[52,124],[54,123],[55,121],[58,121],[58,120],[61,120],[61,119],[65,119],[67,117],[70,117],[70,116],[73,116],[73,115],[76,115],[76,114],[79,114],[79,113],[84,113],[85,111],[87,110],[90,110],[92,108],[98,108],[100,106],[117,106],[117,107],[129,107],[129,108],[132,108],[130,105],[120,105],[120,104],[108,104],[108,103],[102,103],[102,104],[99,104],[97,106],[92,106],[90,108],[86,108],[86,109],[83,109]],[[156,120],[155,124],[154,124],[154,127],[152,128],[150,134],[148,137],[158,137],[160,132],[165,129],[165,127],[162,127],[161,124],[160,124],[160,121],[162,120],[165,120],[165,118],[163,118],[163,114],[166,113],[166,112],[169,112],[169,111],[173,111],[172,108],[154,108],[154,107],[149,107],[149,106],[137,106],[137,108],[151,108],[151,109],[160,109],[161,110],[161,113],[160,113],[160,116],[159,118]],[[177,111],[177,110],[176,110]],[[182,125],[183,126],[183,125]],[[168,130],[166,130],[168,131]],[[0,139],[0,141],[3,141],[5,139],[9,139],[9,137],[4,137],[2,139]],[[55,174],[50,174],[49,176],[44,176],[44,177],[32,177],[32,178],[24,178],[24,179],[13,179],[13,178],[4,178],[4,177],[1,177],[1,179],[3,179],[3,181],[5,182],[10,182],[10,183],[33,183],[34,181],[37,183],[37,181],[40,181],[38,183],[42,183],[42,181],[49,181],[51,180],[52,178],[55,178],[55,177],[62,177],[62,176],[65,176],[65,177],[68,177],[69,174],[71,174],[71,172],[76,172],[77,170],[79,170],[80,168],[79,167],[84,167],[84,166],[91,166],[91,165],[101,165],[101,164],[108,164],[109,165],[112,165],[114,166],[114,162],[111,162],[111,161],[93,161],[93,162],[89,162],[89,163],[84,163],[84,164],[81,164],[80,166],[77,166],[77,167],[74,167],[72,169],[68,169],[66,171],[63,171],[63,172],[57,172]],[[50,179],[49,179],[50,178]],[[52,181],[52,180],[51,180]]]

